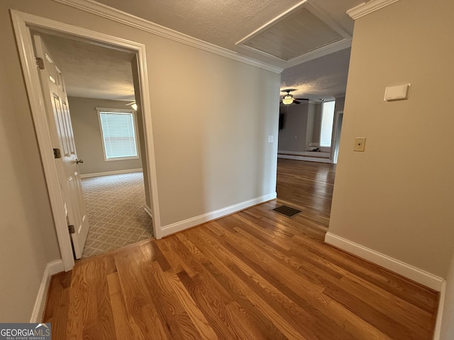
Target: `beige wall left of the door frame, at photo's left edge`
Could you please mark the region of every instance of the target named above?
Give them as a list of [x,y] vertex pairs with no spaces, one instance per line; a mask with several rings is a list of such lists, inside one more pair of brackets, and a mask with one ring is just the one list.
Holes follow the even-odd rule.
[[[6,78],[5,64],[0,79]],[[60,251],[38,149],[27,144],[35,137],[33,126],[16,115],[23,106],[10,89],[0,81],[0,322],[30,322],[45,264]]]

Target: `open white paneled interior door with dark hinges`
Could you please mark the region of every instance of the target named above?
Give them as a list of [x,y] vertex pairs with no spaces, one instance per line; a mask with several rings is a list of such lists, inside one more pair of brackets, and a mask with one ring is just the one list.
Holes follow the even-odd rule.
[[[74,256],[80,259],[88,234],[88,218],[85,209],[82,185],[78,169],[76,147],[72,132],[70,108],[62,72],[55,64],[40,35],[33,35],[35,53],[40,68],[40,80],[45,98],[45,107],[52,145],[60,149],[60,158],[55,158],[62,188],[62,198],[68,225],[74,226],[71,234]],[[83,161],[82,161],[83,162]]]

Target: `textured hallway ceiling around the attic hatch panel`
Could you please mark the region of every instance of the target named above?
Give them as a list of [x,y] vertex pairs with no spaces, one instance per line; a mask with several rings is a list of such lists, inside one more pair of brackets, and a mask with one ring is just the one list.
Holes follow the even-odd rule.
[[[301,0],[99,0],[101,4],[131,13],[214,45],[236,50],[235,42],[299,4]],[[361,0],[309,0],[341,28],[353,32],[345,13]]]

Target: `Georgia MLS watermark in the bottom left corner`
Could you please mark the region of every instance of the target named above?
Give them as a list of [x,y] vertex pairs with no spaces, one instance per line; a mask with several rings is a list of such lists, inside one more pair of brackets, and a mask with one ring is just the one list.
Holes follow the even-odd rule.
[[50,324],[0,324],[0,340],[50,339]]

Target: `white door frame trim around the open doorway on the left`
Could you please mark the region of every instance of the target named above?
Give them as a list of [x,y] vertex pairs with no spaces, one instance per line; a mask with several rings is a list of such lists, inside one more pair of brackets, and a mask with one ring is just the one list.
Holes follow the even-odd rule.
[[142,112],[146,146],[146,149],[143,150],[143,156],[146,157],[148,164],[148,171],[146,171],[147,173],[144,173],[143,176],[148,176],[148,183],[150,183],[149,190],[152,205],[151,208],[153,211],[153,233],[156,239],[160,239],[162,235],[159,200],[157,197],[155,147],[153,145],[150,91],[148,86],[145,45],[139,42],[133,42],[123,38],[114,37],[112,35],[98,33],[93,30],[79,28],[77,26],[60,23],[59,21],[34,16],[32,14],[23,13],[13,9],[10,11],[14,33],[16,35],[16,42],[18,45],[18,52],[21,58],[23,77],[26,82],[26,91],[31,106],[33,123],[35,125],[36,137],[40,149],[40,157],[43,162],[46,185],[48,187],[50,205],[55,222],[55,230],[57,232],[58,244],[60,246],[60,253],[65,271],[70,271],[74,266],[74,257],[72,254],[70,233],[67,228],[65,207],[62,200],[57,167],[55,165],[54,155],[52,152],[52,143],[50,140],[48,120],[45,113],[43,91],[40,84],[38,68],[36,67],[35,52],[33,50],[30,28],[50,30],[57,34],[73,35],[75,37],[92,40],[103,45],[135,51],[139,64],[138,79],[140,81],[140,89],[138,89],[138,91],[140,91],[142,97]]

